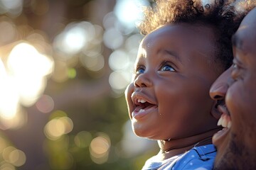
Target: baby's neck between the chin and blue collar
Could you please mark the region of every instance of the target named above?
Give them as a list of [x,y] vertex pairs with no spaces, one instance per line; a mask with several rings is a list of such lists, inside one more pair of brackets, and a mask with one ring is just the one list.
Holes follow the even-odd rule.
[[183,137],[176,140],[158,140],[160,152],[159,160],[168,159],[178,154],[183,154],[193,147],[208,145],[212,143],[212,137],[220,128],[193,135],[191,137]]

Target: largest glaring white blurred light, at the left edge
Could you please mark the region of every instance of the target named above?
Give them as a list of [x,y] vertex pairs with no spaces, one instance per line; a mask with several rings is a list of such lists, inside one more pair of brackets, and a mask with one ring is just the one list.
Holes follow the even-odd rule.
[[[21,41],[0,62],[1,129],[18,128],[26,123],[26,111],[43,94],[47,76],[53,72],[53,60]],[[1,120],[0,119],[0,120]]]

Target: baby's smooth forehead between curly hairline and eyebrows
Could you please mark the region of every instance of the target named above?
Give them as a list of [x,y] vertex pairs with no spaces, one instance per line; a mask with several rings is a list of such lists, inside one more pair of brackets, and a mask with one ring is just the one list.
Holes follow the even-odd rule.
[[208,26],[194,24],[169,24],[145,35],[139,50],[151,48],[171,48],[172,50],[196,49],[198,52],[215,51],[215,31]]

